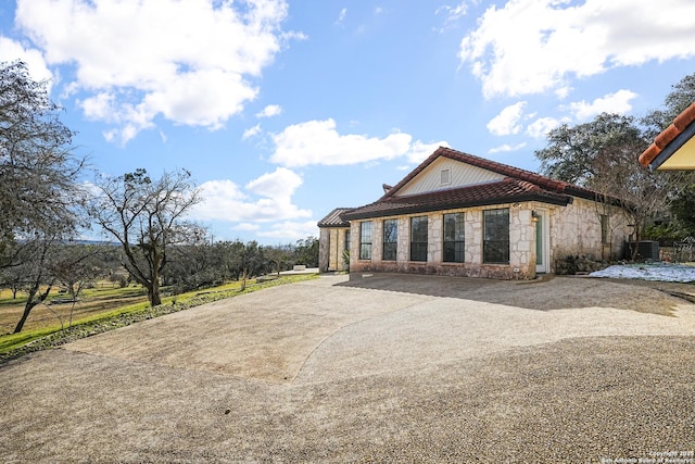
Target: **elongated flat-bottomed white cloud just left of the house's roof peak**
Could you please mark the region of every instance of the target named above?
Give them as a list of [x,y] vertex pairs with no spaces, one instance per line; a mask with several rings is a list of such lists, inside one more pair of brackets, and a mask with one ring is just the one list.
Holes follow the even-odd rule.
[[412,142],[413,137],[403,133],[393,133],[381,139],[355,134],[341,135],[336,130],[336,122],[330,118],[291,125],[273,139],[276,149],[270,161],[290,167],[418,158],[421,147],[425,147],[419,140]]

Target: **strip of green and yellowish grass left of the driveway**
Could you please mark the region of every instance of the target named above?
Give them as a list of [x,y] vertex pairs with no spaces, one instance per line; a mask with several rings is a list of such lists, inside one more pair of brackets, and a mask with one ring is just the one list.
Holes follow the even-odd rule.
[[[65,298],[64,294],[51,292],[47,299],[49,304],[34,308],[20,334],[11,331],[22,315],[26,298],[17,294],[15,300],[9,290],[4,290],[0,292],[0,333],[4,334],[0,336],[0,361],[212,301],[316,277],[315,274],[283,276],[263,283],[252,279],[247,281],[244,290],[241,289],[241,283],[233,281],[219,287],[165,297],[162,304],[155,308],[150,306],[140,286],[115,288],[110,284],[98,285],[93,289],[85,290],[74,308],[73,303],[50,304],[54,298]],[[68,327],[71,311],[72,326]]]

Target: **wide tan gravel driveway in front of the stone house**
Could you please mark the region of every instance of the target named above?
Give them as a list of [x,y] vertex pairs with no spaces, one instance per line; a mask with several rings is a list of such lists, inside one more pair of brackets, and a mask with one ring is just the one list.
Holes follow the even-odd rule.
[[695,463],[691,303],[597,279],[353,277],[0,365],[0,461]]

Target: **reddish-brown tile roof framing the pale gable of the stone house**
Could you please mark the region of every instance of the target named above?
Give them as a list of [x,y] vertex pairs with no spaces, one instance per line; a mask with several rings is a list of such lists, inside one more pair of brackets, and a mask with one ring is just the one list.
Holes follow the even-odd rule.
[[[397,191],[421,173],[439,156],[446,156],[483,170],[502,174],[501,181],[437,190],[432,192],[397,196]],[[343,220],[378,217],[384,215],[425,213],[455,208],[484,206],[519,201],[541,201],[566,205],[572,196],[595,200],[598,193],[561,180],[556,180],[530,171],[473,156],[472,154],[440,147],[413,172],[374,203],[353,209],[342,215]]]

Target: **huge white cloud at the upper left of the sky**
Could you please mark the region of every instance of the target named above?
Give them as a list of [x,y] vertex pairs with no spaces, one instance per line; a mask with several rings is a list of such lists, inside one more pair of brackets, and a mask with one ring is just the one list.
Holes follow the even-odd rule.
[[157,116],[216,129],[241,112],[292,37],[286,16],[283,0],[17,0],[15,23],[49,64],[76,67],[85,114],[127,142]]

